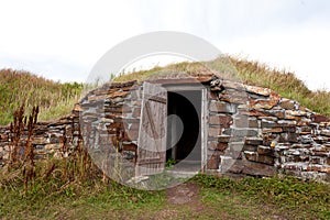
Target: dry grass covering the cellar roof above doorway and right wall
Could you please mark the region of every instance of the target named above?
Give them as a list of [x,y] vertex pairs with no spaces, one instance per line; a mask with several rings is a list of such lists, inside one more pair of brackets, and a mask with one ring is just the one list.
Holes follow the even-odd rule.
[[[231,56],[219,57],[206,63],[179,63],[150,70],[122,74],[116,81],[138,79],[143,81],[160,73],[184,72],[189,75],[218,73],[221,78],[241,81],[251,86],[260,86],[274,90],[285,98],[297,100],[301,106],[315,112],[330,117],[330,92],[311,91],[293,73],[270,68],[257,62],[250,62]],[[312,74],[312,73],[311,73]]]

